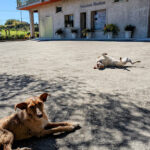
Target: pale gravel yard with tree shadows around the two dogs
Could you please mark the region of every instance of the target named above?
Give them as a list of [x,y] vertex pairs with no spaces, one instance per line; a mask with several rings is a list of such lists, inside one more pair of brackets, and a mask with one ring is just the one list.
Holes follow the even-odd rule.
[[[94,70],[107,52],[142,63]],[[14,104],[51,93],[51,121],[76,121],[74,133],[14,144],[33,150],[150,150],[150,43],[22,41],[0,43],[0,118]]]

